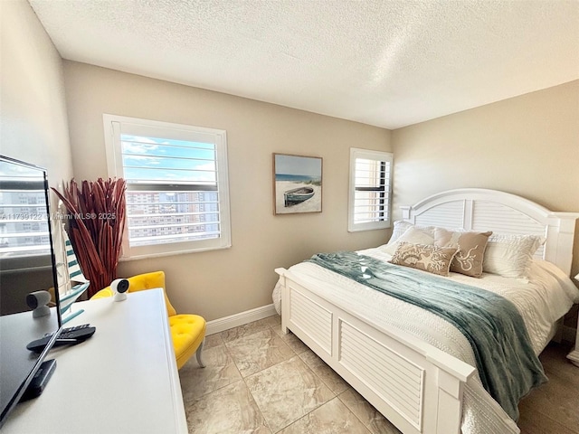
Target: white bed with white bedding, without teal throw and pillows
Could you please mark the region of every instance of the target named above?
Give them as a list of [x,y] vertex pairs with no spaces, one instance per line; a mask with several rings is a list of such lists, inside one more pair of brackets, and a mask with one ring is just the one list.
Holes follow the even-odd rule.
[[[525,276],[450,273],[445,278],[508,298],[539,354],[562,316],[579,302],[579,290],[568,278],[577,218],[579,213],[551,212],[510,193],[459,189],[404,206],[403,222],[394,232],[401,232],[399,244],[404,225],[541,238]],[[385,262],[393,258],[393,247],[357,253]],[[469,341],[444,318],[317,263],[276,272],[282,331],[297,335],[404,434],[519,432],[512,415],[483,387]],[[554,289],[537,295],[535,286],[543,288],[545,281]]]

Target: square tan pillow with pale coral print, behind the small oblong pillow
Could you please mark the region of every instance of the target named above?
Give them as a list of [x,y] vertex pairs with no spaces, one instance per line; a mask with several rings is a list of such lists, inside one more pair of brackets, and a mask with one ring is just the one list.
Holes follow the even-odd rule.
[[447,231],[436,228],[434,231],[434,245],[438,247],[457,247],[457,252],[451,262],[451,271],[465,274],[473,278],[482,276],[482,261],[491,231]]

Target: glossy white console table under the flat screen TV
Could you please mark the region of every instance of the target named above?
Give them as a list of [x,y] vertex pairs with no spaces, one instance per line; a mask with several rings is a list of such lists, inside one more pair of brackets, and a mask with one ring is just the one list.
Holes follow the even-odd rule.
[[160,289],[77,304],[66,326],[95,335],[52,349],[56,370],[43,394],[18,404],[2,433],[186,433],[175,353]]

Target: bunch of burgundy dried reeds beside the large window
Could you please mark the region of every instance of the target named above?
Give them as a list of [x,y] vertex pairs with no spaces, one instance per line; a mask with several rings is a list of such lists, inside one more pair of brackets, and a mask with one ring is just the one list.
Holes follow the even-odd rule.
[[117,278],[126,189],[122,178],[82,181],[81,189],[72,179],[63,194],[52,188],[68,211],[69,238],[82,273],[90,280],[89,297]]

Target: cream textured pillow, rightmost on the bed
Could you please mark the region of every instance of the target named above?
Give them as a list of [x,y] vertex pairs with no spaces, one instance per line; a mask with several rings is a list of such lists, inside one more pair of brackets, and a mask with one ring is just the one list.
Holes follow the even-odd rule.
[[482,270],[504,278],[527,278],[531,259],[544,242],[537,235],[493,235],[485,250]]

